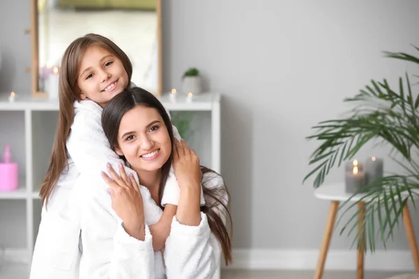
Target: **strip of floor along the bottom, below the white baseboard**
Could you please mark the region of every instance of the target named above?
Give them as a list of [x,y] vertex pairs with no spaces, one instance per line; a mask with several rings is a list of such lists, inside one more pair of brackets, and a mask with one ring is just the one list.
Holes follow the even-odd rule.
[[[365,279],[385,279],[404,272],[366,271]],[[407,273],[407,272],[406,272]],[[312,279],[314,271],[246,271],[223,270],[222,279]],[[27,266],[0,266],[0,279],[27,279]],[[323,279],[355,279],[354,271],[326,271]],[[417,279],[418,277],[414,277]],[[401,278],[413,279],[413,278]]]

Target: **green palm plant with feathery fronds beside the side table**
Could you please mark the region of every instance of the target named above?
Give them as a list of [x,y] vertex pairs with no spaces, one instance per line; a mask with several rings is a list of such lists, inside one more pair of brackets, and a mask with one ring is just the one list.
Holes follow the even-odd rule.
[[[419,51],[418,47],[415,47]],[[386,57],[419,64],[419,58],[402,52],[384,52]],[[348,209],[360,206],[341,229],[355,234],[354,242],[361,246],[361,233],[365,233],[365,251],[374,252],[376,236],[384,244],[392,237],[395,225],[406,202],[418,195],[419,188],[419,96],[412,90],[409,74],[399,77],[397,88],[392,88],[387,80],[372,80],[353,98],[344,101],[353,103],[354,109],[343,119],[323,121],[314,126],[314,134],[309,140],[317,140],[319,146],[311,154],[309,165],[314,168],[304,177],[306,181],[314,176],[314,188],[321,186],[330,169],[339,167],[345,160],[350,160],[365,146],[373,141],[392,148],[390,156],[404,169],[401,174],[383,176],[369,183],[362,190],[362,199],[354,202]],[[397,156],[395,156],[397,155]],[[402,160],[395,159],[402,157]],[[415,158],[416,156],[416,158]],[[356,194],[356,193],[355,193]],[[347,204],[346,201],[341,208]],[[355,207],[355,208],[358,208]],[[358,218],[361,214],[362,218]],[[362,220],[361,231],[356,225]],[[369,245],[368,245],[369,244]]]

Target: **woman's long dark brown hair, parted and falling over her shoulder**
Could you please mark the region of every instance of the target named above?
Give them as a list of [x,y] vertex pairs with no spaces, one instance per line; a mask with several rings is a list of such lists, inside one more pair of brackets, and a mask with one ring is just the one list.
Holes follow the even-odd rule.
[[[168,129],[170,142],[173,145],[173,130],[170,117],[166,112],[163,105],[160,101],[153,96],[152,93],[149,93],[145,89],[138,87],[125,89],[122,93],[119,93],[117,96],[112,98],[108,105],[105,106],[102,113],[102,126],[103,131],[105,132],[106,137],[108,137],[110,146],[118,146],[118,130],[119,124],[121,123],[122,116],[126,114],[129,110],[133,109],[135,106],[144,106],[152,107],[156,109]],[[166,180],[168,179],[170,167],[172,165],[173,150],[170,154],[168,161],[161,167],[161,181],[159,186],[159,202],[161,203],[161,198],[163,197],[163,190],[166,185]],[[233,227],[231,220],[230,210],[228,208],[228,201],[230,200],[230,195],[225,185],[220,187],[210,187],[208,184],[211,181],[212,177],[210,174],[213,174],[214,177],[219,176],[216,172],[208,169],[207,167],[201,166],[203,174],[203,194],[205,197],[205,205],[201,206],[201,211],[207,215],[208,224],[210,225],[211,232],[216,236],[219,243],[221,244],[221,250],[223,251],[224,259],[226,264],[232,262],[231,255],[231,240],[230,235],[228,234],[227,227],[223,221],[223,218],[226,218],[228,223],[230,223],[230,229]],[[224,215],[224,216],[223,216]]]

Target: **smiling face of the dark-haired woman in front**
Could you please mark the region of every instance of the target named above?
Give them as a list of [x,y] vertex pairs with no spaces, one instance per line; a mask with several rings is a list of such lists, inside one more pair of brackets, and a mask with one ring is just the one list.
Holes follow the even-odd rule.
[[122,116],[115,151],[135,171],[161,169],[172,152],[168,129],[159,112],[137,105]]

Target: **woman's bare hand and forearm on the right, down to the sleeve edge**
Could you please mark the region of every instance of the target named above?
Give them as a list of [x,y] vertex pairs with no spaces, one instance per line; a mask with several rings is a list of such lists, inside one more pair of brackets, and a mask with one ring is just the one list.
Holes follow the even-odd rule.
[[180,186],[179,203],[176,218],[182,225],[200,224],[200,191],[203,172],[195,151],[189,149],[184,140],[175,140],[176,151],[173,154],[173,168]]

